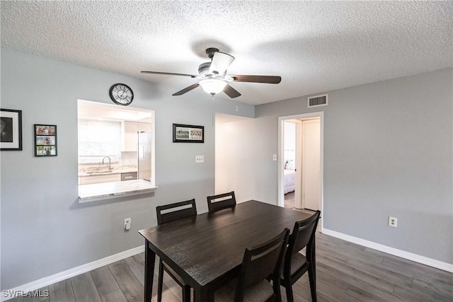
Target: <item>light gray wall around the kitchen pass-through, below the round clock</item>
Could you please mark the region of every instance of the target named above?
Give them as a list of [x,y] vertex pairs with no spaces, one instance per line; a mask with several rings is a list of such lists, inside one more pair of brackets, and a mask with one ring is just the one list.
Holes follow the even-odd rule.
[[[132,107],[156,112],[154,194],[77,202],[77,99],[111,103],[113,83],[134,91]],[[214,193],[212,97],[120,74],[1,49],[1,108],[22,110],[23,151],[1,151],[1,290],[144,244],[138,231],[156,225],[155,207],[195,198],[201,213]],[[218,112],[254,117],[254,107],[214,98]],[[173,144],[172,124],[205,126],[205,144]],[[58,156],[36,158],[33,124],[56,124]],[[205,163],[195,164],[195,155]],[[132,229],[123,231],[123,219]]]

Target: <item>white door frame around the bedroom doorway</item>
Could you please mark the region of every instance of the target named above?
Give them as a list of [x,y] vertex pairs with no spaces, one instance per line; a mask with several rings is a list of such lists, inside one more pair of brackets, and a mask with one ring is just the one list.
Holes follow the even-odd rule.
[[[285,120],[304,120],[304,119],[309,119],[309,118],[312,118],[312,117],[319,117],[319,126],[320,126],[320,134],[321,134],[321,137],[320,137],[320,194],[319,196],[321,197],[321,204],[319,205],[319,209],[321,211],[321,213],[323,213],[323,204],[324,204],[324,177],[323,177],[323,174],[324,174],[324,112],[311,112],[311,113],[304,113],[304,114],[300,114],[300,115],[286,115],[286,116],[282,116],[282,117],[278,117],[278,158],[279,158],[279,161],[278,161],[278,205],[280,207],[285,207],[285,190],[284,190],[284,180],[283,180],[283,168],[285,167],[285,158],[283,158],[284,156],[284,151],[283,151],[283,137],[284,137],[284,133],[283,133],[283,123],[285,122]],[[299,146],[300,148],[300,146]],[[301,170],[299,170],[299,173],[302,172]],[[300,190],[299,190],[300,192]],[[323,231],[323,216],[324,215],[321,215],[321,219],[320,219],[320,231],[322,232]]]

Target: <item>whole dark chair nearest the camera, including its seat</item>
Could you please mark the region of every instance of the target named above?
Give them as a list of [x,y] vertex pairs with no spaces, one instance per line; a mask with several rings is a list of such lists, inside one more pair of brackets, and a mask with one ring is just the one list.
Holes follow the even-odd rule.
[[[289,229],[253,248],[246,248],[239,277],[214,292],[215,302],[282,301],[280,271]],[[272,280],[272,285],[268,281]]]

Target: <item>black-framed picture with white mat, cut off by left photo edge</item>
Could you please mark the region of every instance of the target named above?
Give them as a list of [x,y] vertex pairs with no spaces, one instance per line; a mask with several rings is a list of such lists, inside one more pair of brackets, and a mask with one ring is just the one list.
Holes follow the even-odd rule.
[[0,109],[0,150],[22,150],[22,111]]

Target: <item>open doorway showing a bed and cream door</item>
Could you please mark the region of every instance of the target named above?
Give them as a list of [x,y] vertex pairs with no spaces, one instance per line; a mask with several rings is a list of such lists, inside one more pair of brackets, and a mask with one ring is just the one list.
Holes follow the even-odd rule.
[[323,112],[279,117],[279,128],[279,205],[322,211]]

